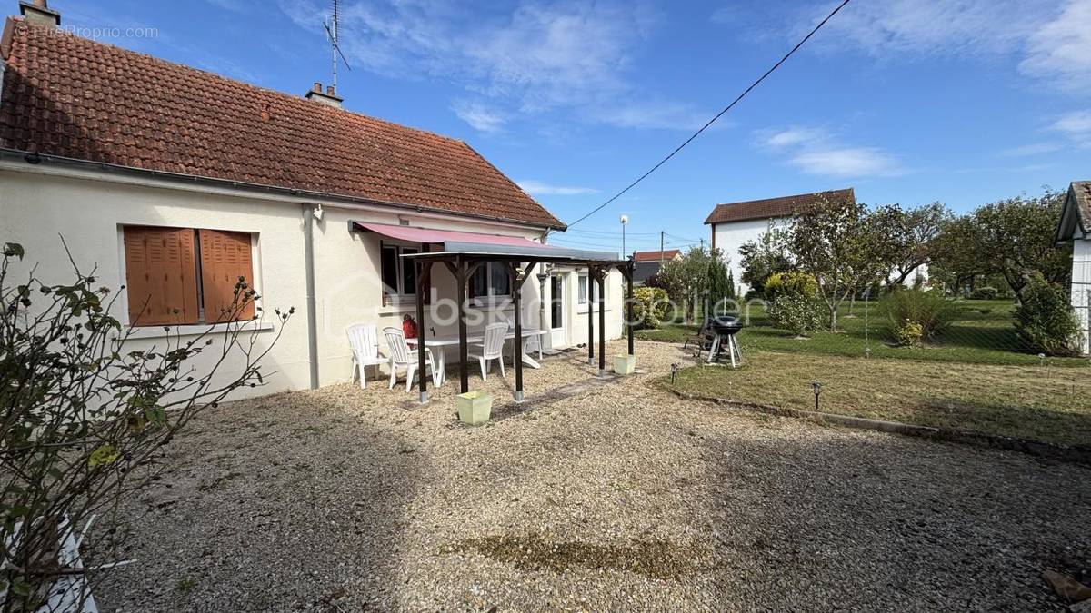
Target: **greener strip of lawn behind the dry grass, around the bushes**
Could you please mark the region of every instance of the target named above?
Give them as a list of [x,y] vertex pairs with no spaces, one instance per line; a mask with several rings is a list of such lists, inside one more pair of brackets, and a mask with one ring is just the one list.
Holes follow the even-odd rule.
[[[777,351],[863,357],[866,347],[874,358],[1040,365],[1038,354],[1027,351],[1016,335],[1011,320],[1015,305],[1010,300],[961,300],[957,302],[957,308],[959,315],[955,324],[939,338],[919,348],[892,346],[882,306],[868,305],[865,316],[864,304],[860,302],[852,315],[848,304],[842,305],[837,333],[819,332],[806,339],[794,338],[790,333],[772,327],[765,309],[755,305],[750,310],[748,325],[738,339],[746,354]],[[637,330],[636,336],[645,340],[682,342],[696,329],[697,326],[692,325],[664,324],[660,329]],[[1053,366],[1091,365],[1089,360],[1081,358],[1046,358],[1045,362]]]

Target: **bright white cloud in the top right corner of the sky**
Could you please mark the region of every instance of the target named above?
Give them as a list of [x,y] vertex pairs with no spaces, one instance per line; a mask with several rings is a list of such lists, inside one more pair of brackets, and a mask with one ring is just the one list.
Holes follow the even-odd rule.
[[1069,0],[1055,19],[1041,24],[1029,36],[1019,70],[1068,92],[1091,89],[1091,0]]

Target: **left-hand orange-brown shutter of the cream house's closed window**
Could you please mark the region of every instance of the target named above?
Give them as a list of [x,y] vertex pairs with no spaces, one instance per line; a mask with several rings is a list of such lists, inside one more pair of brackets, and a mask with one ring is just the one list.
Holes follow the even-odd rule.
[[129,321],[139,326],[197,323],[193,230],[127,227],[124,249]]

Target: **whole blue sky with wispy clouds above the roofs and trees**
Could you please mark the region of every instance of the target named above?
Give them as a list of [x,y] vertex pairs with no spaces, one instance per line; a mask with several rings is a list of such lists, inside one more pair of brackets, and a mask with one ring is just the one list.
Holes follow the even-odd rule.
[[[10,8],[15,9],[10,0]],[[63,25],[291,94],[329,2],[52,0]],[[461,139],[564,220],[684,140],[829,2],[344,0],[353,111]],[[118,28],[118,29],[113,29]],[[128,35],[129,28],[154,28]],[[1091,0],[853,0],[659,172],[558,242],[707,240],[719,202],[853,187],[956,211],[1091,179]]]

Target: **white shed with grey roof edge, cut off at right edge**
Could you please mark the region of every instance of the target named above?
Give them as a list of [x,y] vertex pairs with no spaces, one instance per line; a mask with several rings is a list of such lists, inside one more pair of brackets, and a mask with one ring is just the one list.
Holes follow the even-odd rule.
[[1072,243],[1071,304],[1083,330],[1083,352],[1091,352],[1091,181],[1074,181],[1060,209],[1057,244]]

